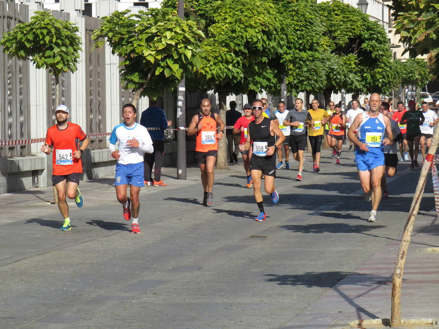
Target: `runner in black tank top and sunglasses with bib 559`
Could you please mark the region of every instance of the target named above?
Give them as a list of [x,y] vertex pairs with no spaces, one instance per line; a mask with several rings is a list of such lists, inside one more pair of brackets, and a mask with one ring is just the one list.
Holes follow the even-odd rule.
[[[250,149],[253,145],[253,155],[250,159],[250,172],[252,174],[253,189],[256,203],[259,207],[259,215],[256,221],[265,220],[266,214],[260,193],[260,179],[262,174],[265,176],[265,192],[270,194],[273,203],[278,203],[279,194],[276,191],[274,180],[276,177],[276,149],[285,140],[285,135],[279,129],[279,126],[271,119],[262,116],[262,101],[256,99],[253,101],[252,112],[255,120],[248,125],[247,139],[244,145],[239,145],[240,151]],[[275,140],[275,135],[278,140]]]

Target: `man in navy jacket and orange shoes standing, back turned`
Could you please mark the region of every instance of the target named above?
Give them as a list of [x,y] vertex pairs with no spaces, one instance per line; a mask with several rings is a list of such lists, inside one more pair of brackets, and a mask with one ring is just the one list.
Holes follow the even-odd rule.
[[[156,106],[157,100],[149,98],[149,107],[142,112],[140,124],[148,129],[154,146],[152,154],[145,153],[143,155],[145,185],[148,186],[167,186],[161,180],[161,165],[163,163],[164,152],[164,130],[172,124],[167,121],[162,109]],[[154,180],[152,179],[152,167],[154,167]]]

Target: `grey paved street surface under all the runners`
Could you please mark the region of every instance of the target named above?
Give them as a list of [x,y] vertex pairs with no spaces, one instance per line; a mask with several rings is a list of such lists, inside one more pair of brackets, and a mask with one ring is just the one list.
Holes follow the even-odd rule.
[[[281,169],[262,223],[242,163],[216,171],[203,207],[198,167],[140,192],[141,234],[122,219],[113,178],[81,181],[69,202],[52,188],[0,195],[0,328],[329,328],[389,318],[391,275],[419,170],[399,165],[377,223],[367,223],[353,154],[322,152],[304,180]],[[241,161],[241,159],[239,159]],[[439,234],[429,177],[402,285],[403,318],[437,318]],[[433,248],[433,249],[429,249]]]

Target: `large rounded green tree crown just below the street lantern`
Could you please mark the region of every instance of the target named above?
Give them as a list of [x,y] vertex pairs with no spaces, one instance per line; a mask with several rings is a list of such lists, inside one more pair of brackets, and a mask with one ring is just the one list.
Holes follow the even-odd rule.
[[[306,8],[301,13],[302,21],[293,16],[292,23],[295,20],[311,25]],[[348,93],[389,91],[393,74],[384,29],[358,9],[338,0],[315,4],[312,13],[316,30],[313,38],[306,39],[303,34],[295,38],[314,40],[314,46],[292,49],[287,76],[290,86],[323,93],[326,104],[331,94],[341,89]],[[294,29],[291,30],[294,35]]]

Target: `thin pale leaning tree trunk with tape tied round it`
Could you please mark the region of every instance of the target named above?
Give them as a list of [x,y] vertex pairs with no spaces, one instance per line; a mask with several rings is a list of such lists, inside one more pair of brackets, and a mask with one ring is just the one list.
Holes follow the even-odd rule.
[[[429,155],[436,154],[439,143],[439,129],[436,129],[435,135],[428,150]],[[391,327],[400,327],[401,325],[401,284],[402,275],[404,273],[405,258],[410,244],[410,238],[415,224],[416,215],[418,214],[419,205],[424,192],[425,182],[427,181],[428,171],[432,163],[425,161],[422,165],[422,170],[419,176],[418,186],[416,187],[415,195],[413,196],[412,205],[410,206],[410,213],[405,223],[404,232],[402,233],[401,244],[399,245],[398,258],[395,265],[395,271],[392,278],[392,314],[390,318]],[[433,164],[436,166],[436,164]]]

